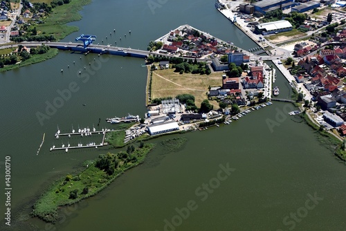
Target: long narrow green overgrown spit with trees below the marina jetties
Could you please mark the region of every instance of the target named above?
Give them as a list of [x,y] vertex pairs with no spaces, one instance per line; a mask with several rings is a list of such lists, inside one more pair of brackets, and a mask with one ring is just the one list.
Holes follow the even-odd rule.
[[100,155],[89,161],[83,172],[67,175],[56,181],[51,188],[36,201],[32,216],[47,222],[57,221],[57,209],[64,205],[78,203],[103,190],[114,179],[127,169],[143,163],[145,157],[154,148],[154,144],[146,144],[130,153],[120,151],[118,154]]

